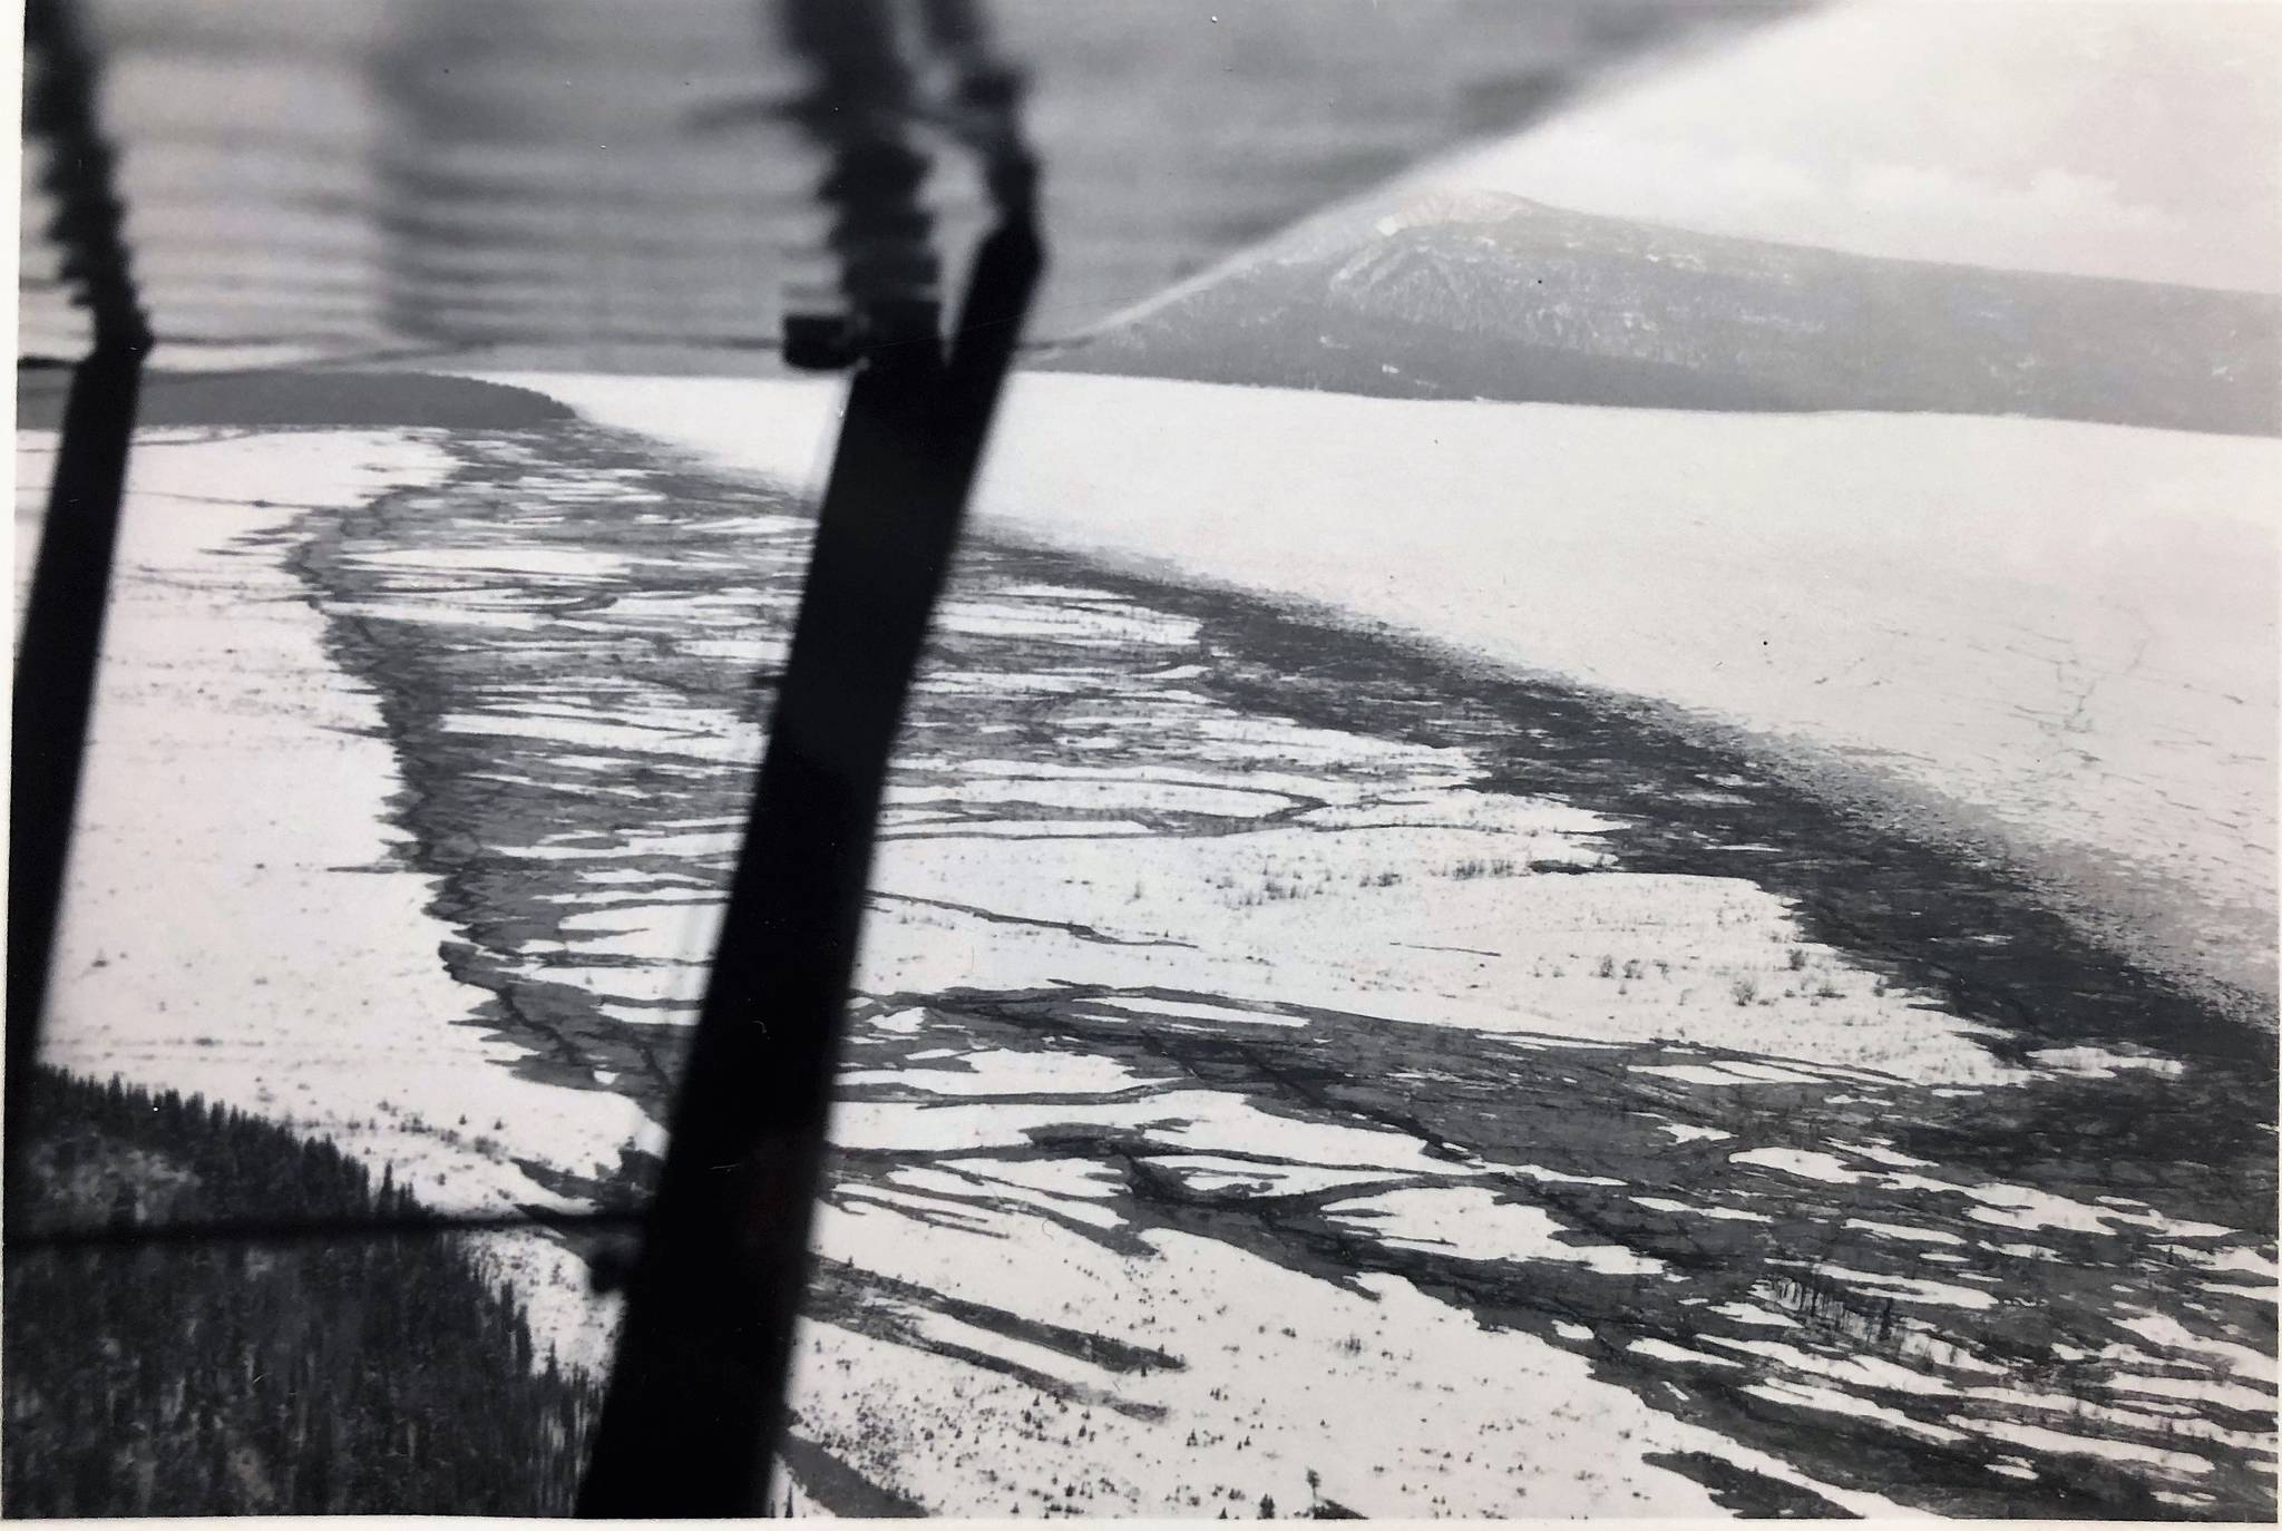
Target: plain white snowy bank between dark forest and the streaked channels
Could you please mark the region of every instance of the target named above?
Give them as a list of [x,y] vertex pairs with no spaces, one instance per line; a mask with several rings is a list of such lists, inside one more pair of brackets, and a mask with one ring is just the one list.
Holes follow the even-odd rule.
[[[18,436],[18,589],[52,449]],[[288,566],[301,516],[450,470],[418,434],[137,438],[43,1054],[331,1136],[436,1209],[568,1207],[516,1157],[614,1161],[646,1118],[511,1075],[525,1050],[472,1024],[488,995],[447,977],[390,824],[379,698]],[[484,1246],[541,1335],[602,1360],[605,1305],[559,1244]]]

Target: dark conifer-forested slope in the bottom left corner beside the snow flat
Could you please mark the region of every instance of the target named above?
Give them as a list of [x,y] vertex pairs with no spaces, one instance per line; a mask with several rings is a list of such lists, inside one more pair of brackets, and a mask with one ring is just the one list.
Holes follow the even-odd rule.
[[[43,1075],[27,1116],[18,1237],[420,1212],[331,1143],[196,1095]],[[34,1244],[5,1285],[11,1517],[570,1506],[598,1390],[532,1353],[450,1237]]]

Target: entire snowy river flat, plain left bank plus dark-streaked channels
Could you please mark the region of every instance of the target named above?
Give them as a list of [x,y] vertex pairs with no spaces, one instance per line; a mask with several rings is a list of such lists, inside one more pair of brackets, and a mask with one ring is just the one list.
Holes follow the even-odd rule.
[[[623,1196],[812,523],[582,424],[153,436],[135,488],[59,1061],[440,1207]],[[1951,961],[2081,958],[1830,922],[1766,869],[1842,846],[1757,764],[1381,653],[968,548],[874,867],[808,1504],[1880,1510],[2095,1458],[2102,1504],[2264,1504],[2257,1175],[2102,1136],[2264,1104],[2106,1029],[2097,967],[2036,1045],[1960,1011]],[[2033,929],[1972,876],[1947,940]],[[580,1271],[493,1244],[598,1358]]]

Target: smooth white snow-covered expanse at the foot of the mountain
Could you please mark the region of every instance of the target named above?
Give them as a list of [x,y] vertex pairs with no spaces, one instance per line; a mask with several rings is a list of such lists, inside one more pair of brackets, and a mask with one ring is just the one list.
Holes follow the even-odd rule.
[[[500,376],[815,488],[824,381]],[[2273,1004],[2282,443],[1020,376],[979,527],[1764,735]]]

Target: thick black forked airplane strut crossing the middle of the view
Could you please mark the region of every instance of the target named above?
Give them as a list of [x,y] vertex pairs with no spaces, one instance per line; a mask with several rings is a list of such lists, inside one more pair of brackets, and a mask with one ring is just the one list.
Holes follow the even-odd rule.
[[[865,155],[901,169],[860,148],[842,192]],[[904,303],[849,390],[580,1515],[762,1508],[888,755],[1043,269],[1027,157],[1004,155],[993,185],[1000,226],[949,349],[933,324],[911,333]],[[844,212],[849,235],[895,224]]]

